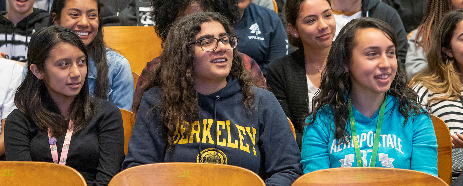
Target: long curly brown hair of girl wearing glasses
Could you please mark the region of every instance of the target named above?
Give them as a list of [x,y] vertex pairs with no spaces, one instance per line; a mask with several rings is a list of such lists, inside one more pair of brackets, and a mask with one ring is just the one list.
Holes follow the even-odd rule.
[[[194,52],[190,43],[195,41],[201,31],[201,24],[217,21],[221,23],[228,35],[234,35],[233,28],[227,19],[216,12],[199,12],[187,15],[176,21],[169,31],[164,50],[160,56],[160,63],[148,76],[148,83],[142,88],[142,93],[152,87],[163,90],[161,119],[166,127],[168,149],[174,148],[172,136],[179,121],[197,121],[198,93],[194,89]],[[254,109],[254,93],[250,73],[244,68],[244,62],[238,50],[233,49],[232,69],[229,76],[238,79],[243,93],[243,104],[249,112]],[[134,100],[132,109],[138,112],[142,96]],[[149,113],[148,113],[149,114]],[[191,132],[191,125],[185,126],[187,133]]]

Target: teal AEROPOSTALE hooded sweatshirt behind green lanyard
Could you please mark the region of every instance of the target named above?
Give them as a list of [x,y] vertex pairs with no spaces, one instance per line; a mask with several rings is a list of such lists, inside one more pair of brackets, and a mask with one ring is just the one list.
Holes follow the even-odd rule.
[[[379,110],[371,118],[355,107],[353,111],[363,167],[369,167]],[[388,95],[375,167],[412,169],[437,176],[437,140],[431,118],[425,113],[410,116],[405,126],[404,120],[397,99]],[[352,139],[350,119],[346,127]],[[304,174],[325,168],[357,167],[354,144],[335,139],[334,129],[332,111],[327,109],[317,112],[315,122],[304,127]]]

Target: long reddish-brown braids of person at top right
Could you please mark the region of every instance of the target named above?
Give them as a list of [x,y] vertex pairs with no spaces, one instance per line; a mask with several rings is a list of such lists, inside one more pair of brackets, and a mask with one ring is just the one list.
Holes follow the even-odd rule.
[[428,52],[436,26],[444,15],[452,10],[452,0],[428,0],[426,12],[417,28],[415,47],[423,47]]

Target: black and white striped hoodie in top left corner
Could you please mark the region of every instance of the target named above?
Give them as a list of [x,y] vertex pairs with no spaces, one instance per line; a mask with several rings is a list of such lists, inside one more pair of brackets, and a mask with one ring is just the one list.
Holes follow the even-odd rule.
[[6,59],[26,62],[31,35],[48,26],[50,15],[45,10],[34,8],[34,12],[14,26],[4,17],[6,13],[0,12],[0,52],[6,54]]

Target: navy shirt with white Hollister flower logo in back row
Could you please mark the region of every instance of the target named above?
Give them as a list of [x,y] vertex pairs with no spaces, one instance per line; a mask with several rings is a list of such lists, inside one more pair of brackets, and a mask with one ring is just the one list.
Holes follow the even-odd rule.
[[275,11],[251,3],[234,29],[238,50],[256,60],[264,75],[271,60],[288,54],[288,37]]

